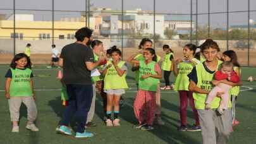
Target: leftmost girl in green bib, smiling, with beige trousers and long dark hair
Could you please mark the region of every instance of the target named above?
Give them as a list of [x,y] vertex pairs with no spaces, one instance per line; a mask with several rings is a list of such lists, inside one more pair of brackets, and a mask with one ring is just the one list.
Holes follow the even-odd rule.
[[39,131],[34,121],[37,118],[37,106],[35,105],[35,93],[33,90],[33,74],[30,58],[23,53],[16,54],[11,61],[10,69],[6,73],[5,97],[9,102],[12,132],[19,132],[20,105],[27,107],[27,129]]

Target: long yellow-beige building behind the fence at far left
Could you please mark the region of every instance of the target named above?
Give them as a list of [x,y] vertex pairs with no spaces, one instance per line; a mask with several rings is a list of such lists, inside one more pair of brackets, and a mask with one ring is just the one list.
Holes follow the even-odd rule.
[[[0,37],[9,37],[21,40],[51,39],[75,39],[75,32],[85,27],[85,17],[61,18],[54,21],[54,35],[52,35],[52,21],[35,21],[33,15],[15,15],[16,33],[13,33],[13,16],[5,19],[0,16]],[[94,29],[94,35],[100,35],[102,23],[101,16],[90,17],[90,28]]]

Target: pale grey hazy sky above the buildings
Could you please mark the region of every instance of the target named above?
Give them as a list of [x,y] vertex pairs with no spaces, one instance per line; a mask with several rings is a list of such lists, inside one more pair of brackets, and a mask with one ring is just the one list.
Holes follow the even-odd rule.
[[[121,0],[90,0],[94,7],[112,8],[121,10]],[[153,11],[153,0],[124,0],[124,9]],[[184,13],[190,14],[190,0],[156,0],[157,13]],[[195,0],[192,1],[193,13],[195,13]],[[226,0],[210,0],[210,11],[225,12]],[[0,9],[13,8],[13,0],[0,0]],[[52,0],[16,0],[16,9],[52,9]],[[79,16],[78,12],[61,11],[85,11],[85,0],[54,0],[56,18]],[[229,11],[247,11],[248,0],[229,0]],[[256,21],[256,0],[250,0],[251,19]],[[198,0],[198,13],[208,12],[208,1]],[[0,13],[11,15],[11,10],[0,10]],[[35,20],[51,20],[51,11],[16,11],[16,13],[32,13]],[[195,20],[195,16],[193,16]],[[247,25],[247,13],[230,13],[229,25]],[[198,25],[207,24],[207,15],[198,15]],[[210,15],[210,25],[213,27],[226,27],[226,14]]]

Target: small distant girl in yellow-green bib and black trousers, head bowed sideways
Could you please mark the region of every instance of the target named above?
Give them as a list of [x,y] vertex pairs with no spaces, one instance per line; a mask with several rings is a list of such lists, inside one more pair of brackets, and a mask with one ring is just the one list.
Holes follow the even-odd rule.
[[162,49],[164,52],[166,52],[166,56],[164,56],[161,66],[162,70],[164,71],[164,81],[166,82],[166,85],[161,87],[161,90],[171,90],[172,87],[170,85],[169,76],[171,75],[171,71],[173,71],[173,50],[171,50],[169,45],[162,46]]

